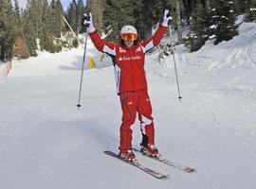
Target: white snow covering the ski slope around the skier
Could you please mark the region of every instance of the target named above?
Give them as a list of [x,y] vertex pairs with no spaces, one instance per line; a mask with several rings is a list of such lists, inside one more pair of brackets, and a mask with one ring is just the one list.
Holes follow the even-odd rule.
[[[82,47],[14,60],[0,80],[1,188],[254,189],[256,24],[243,23],[239,31],[195,53],[176,46],[181,101],[173,57],[158,62],[157,51],[146,57],[156,145],[167,159],[198,169],[187,174],[137,154],[170,174],[168,180],[103,154],[118,151],[121,111],[110,59],[101,62],[90,41],[87,56],[99,69],[84,71],[80,110]],[[138,122],[133,129],[138,147]]]

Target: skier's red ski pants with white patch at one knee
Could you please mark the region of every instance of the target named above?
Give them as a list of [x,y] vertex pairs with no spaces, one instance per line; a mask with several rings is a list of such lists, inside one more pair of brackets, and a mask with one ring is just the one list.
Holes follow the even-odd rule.
[[[142,132],[142,143],[155,145],[155,129],[152,117],[152,106],[147,91],[122,92],[119,94],[122,110],[119,149],[121,153],[132,148],[131,126],[135,123],[137,113]],[[143,142],[144,141],[144,142]]]

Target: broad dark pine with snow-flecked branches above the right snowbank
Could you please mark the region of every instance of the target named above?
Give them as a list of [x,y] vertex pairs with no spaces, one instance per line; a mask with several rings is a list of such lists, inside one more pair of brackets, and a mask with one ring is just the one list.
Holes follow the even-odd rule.
[[216,41],[214,44],[229,41],[238,35],[238,26],[235,25],[234,3],[232,1],[218,0],[216,7]]

